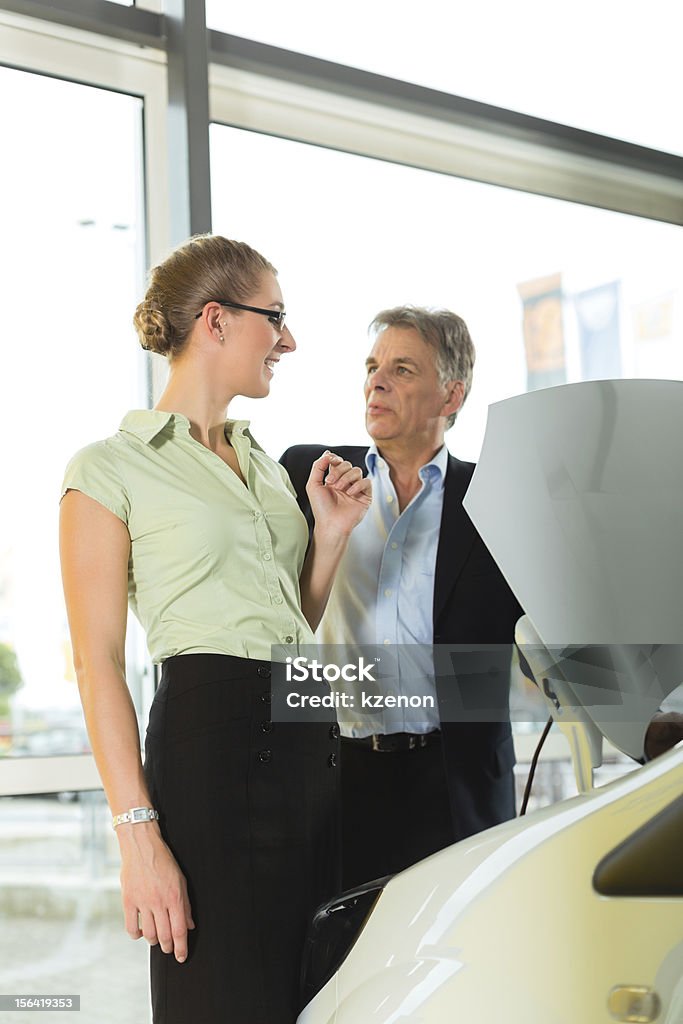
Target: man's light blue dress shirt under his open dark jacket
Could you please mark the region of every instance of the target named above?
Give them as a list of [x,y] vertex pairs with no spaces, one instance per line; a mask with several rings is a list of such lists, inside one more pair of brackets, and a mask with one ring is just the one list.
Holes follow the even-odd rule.
[[439,727],[431,645],[434,570],[447,459],[443,445],[420,469],[420,490],[399,512],[387,463],[375,445],[366,457],[373,481],[373,504],[351,534],[317,640],[323,644],[344,644],[347,660],[353,660],[362,645],[388,648],[378,671],[382,690],[432,696],[434,707],[385,708],[372,713],[366,710],[360,717],[351,709],[338,708],[345,736],[424,733]]

